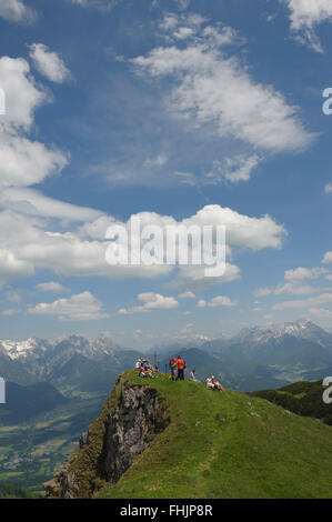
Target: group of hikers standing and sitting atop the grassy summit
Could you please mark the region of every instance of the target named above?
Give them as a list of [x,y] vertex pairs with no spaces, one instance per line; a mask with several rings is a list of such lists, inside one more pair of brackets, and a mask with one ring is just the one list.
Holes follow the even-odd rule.
[[[135,363],[135,368],[139,370],[139,377],[142,378],[150,378],[152,379],[154,377],[154,373],[159,373],[159,368],[155,364],[151,363],[149,359],[138,359],[138,362]],[[185,361],[181,358],[181,355],[178,355],[178,358],[172,357],[170,360],[170,377],[169,379],[171,381],[183,381],[184,380],[184,370],[187,368]],[[190,380],[193,382],[201,382],[199,379],[195,377],[195,371],[194,369],[191,370],[190,372]],[[207,379],[207,388],[208,390],[218,390],[218,391],[223,391],[224,388],[219,381],[215,381],[214,375],[211,375],[210,378]]]

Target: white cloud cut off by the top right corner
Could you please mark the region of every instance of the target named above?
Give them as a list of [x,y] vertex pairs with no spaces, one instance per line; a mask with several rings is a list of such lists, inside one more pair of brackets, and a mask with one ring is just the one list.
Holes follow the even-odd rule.
[[280,0],[290,10],[291,29],[298,40],[309,44],[314,51],[322,52],[315,27],[332,19],[331,0]]

